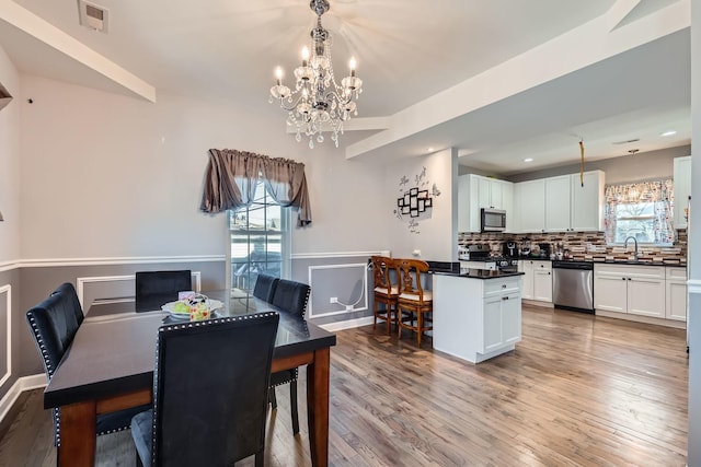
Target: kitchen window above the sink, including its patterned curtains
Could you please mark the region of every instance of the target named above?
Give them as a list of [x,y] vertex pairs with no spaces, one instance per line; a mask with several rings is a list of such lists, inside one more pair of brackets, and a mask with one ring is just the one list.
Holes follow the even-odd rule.
[[628,237],[641,244],[668,246],[675,241],[673,180],[606,187],[606,241],[620,245]]

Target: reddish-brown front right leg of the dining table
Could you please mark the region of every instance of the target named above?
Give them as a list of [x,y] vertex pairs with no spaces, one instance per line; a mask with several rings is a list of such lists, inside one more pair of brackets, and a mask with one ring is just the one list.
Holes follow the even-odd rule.
[[329,465],[329,370],[331,350],[314,351],[314,361],[307,365],[307,416],[311,464]]

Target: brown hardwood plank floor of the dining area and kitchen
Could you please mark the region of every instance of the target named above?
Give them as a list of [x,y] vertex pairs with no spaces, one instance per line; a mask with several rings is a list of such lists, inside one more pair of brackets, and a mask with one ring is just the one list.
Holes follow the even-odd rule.
[[[331,364],[333,466],[686,464],[685,330],[525,305],[524,340],[479,365],[383,326],[337,332]],[[310,465],[303,373],[301,433],[283,386],[266,465]],[[41,390],[18,404],[0,465],[55,465]],[[99,441],[99,465],[134,465],[128,432]]]

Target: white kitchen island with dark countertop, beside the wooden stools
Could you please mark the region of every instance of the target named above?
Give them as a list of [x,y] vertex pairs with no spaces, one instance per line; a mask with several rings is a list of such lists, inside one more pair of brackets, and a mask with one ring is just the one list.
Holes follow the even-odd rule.
[[522,275],[435,272],[434,349],[471,363],[514,350],[521,340]]

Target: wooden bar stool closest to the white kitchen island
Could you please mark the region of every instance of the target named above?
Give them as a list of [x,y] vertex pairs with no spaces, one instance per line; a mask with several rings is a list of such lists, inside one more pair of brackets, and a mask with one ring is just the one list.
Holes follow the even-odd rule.
[[428,262],[421,259],[400,259],[399,297],[397,307],[399,311],[399,337],[402,329],[411,329],[416,332],[416,343],[421,347],[421,339],[425,331],[433,327],[433,293],[424,290],[422,273],[428,272]]

